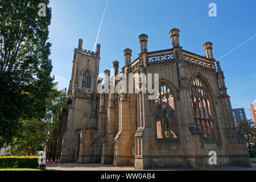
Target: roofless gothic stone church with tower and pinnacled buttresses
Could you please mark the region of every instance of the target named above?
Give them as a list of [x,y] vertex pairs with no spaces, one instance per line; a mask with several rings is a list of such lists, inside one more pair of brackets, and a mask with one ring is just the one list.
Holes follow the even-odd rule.
[[[179,32],[170,31],[172,48],[151,52],[148,36],[139,35],[138,57],[131,61],[132,51],[126,48],[125,66],[119,70],[118,61],[113,61],[114,76],[110,78],[106,69],[104,84],[98,78],[100,44],[96,52],[87,51],[79,39],[60,162],[205,169],[210,166],[209,154],[217,154],[216,166],[251,166],[245,140],[236,130],[224,73],[213,57],[213,44],[206,42],[205,56],[197,55],[180,46]],[[117,85],[118,80],[110,80],[119,73],[128,80],[129,73],[159,73],[157,96],[148,99],[142,79],[139,93],[99,92],[98,85],[102,89]]]

